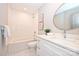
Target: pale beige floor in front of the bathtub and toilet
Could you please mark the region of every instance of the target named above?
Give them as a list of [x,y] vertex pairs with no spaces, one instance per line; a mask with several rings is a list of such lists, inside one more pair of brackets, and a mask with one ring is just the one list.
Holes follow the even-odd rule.
[[22,51],[18,51],[18,52],[10,52],[7,56],[35,56],[35,49],[31,48],[31,49],[24,49]]

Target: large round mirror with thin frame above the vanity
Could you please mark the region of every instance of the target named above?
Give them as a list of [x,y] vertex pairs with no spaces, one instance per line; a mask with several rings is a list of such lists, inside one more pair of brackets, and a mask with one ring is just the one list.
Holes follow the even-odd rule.
[[56,11],[54,25],[60,30],[79,28],[79,4],[64,3]]

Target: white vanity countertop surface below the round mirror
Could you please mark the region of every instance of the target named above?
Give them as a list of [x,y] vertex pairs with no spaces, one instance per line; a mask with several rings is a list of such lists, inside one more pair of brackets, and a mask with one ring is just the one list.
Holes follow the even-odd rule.
[[[74,40],[73,38],[63,38],[63,37],[55,37],[55,36],[46,36],[46,35],[37,35],[37,37],[45,39],[49,42],[56,43],[65,48],[68,48],[72,51],[79,53],[79,40]],[[72,41],[71,41],[72,39]]]

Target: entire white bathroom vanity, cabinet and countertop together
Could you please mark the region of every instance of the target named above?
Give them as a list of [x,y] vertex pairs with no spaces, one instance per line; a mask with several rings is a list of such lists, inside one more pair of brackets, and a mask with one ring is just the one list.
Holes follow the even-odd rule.
[[79,40],[46,35],[38,35],[36,39],[38,56],[79,56]]

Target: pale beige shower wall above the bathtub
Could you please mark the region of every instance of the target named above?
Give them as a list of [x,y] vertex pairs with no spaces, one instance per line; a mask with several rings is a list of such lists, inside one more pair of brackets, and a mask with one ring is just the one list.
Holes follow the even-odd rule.
[[8,7],[8,26],[11,37],[9,43],[33,40],[34,20],[33,15]]

